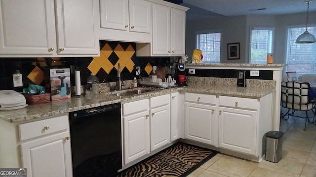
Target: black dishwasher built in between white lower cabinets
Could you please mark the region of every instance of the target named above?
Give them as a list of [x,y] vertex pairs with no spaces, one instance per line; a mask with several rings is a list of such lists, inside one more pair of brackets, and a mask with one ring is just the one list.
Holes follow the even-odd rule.
[[122,168],[120,107],[69,113],[74,177],[112,177]]

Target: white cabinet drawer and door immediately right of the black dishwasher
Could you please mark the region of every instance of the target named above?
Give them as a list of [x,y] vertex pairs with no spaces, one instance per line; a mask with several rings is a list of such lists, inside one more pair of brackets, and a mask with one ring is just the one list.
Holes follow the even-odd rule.
[[149,99],[122,105],[124,164],[150,152]]

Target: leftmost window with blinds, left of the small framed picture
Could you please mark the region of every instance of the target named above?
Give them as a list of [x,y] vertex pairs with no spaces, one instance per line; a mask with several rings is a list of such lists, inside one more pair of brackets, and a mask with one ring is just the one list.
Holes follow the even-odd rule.
[[204,63],[219,63],[221,33],[197,34],[197,49],[202,51]]

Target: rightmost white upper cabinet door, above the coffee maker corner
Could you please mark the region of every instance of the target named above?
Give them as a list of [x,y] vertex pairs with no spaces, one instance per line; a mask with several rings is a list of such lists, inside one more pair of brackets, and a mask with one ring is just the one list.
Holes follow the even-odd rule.
[[185,55],[186,12],[171,9],[171,55]]

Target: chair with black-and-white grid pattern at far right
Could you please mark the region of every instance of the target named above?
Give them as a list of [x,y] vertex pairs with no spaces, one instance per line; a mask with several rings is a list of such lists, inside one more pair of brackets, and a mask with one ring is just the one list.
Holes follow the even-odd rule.
[[[308,112],[312,110],[315,118],[315,100],[310,100],[308,97],[308,83],[302,82],[282,82],[281,84],[281,106],[282,108],[287,108],[287,113],[284,116],[289,116],[291,110],[300,110],[305,111],[305,127],[306,130],[306,122],[310,119],[308,117]],[[284,117],[283,116],[283,117]],[[314,121],[313,118],[313,121]]]

